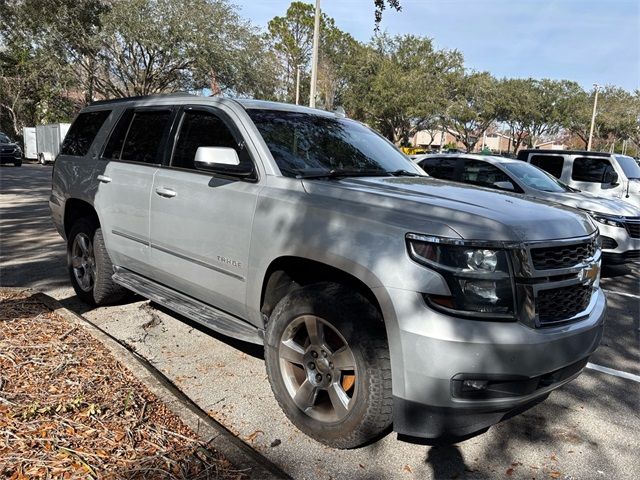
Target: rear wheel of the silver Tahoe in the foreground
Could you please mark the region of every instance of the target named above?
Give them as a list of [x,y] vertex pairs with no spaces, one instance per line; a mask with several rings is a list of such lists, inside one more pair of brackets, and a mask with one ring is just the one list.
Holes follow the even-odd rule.
[[93,305],[122,300],[127,290],[113,282],[113,265],[104,245],[102,230],[88,219],[74,223],[67,243],[67,265],[78,297]]

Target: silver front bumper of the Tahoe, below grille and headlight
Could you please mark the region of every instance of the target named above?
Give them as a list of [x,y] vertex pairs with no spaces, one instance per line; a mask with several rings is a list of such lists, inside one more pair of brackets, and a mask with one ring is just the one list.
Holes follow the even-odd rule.
[[[579,375],[600,343],[606,312],[597,289],[584,318],[532,328],[450,317],[427,307],[416,292],[387,292],[399,326],[389,336],[394,430],[420,438],[479,432],[544,399]],[[512,379],[526,387],[504,397],[460,398],[452,380],[461,375]]]

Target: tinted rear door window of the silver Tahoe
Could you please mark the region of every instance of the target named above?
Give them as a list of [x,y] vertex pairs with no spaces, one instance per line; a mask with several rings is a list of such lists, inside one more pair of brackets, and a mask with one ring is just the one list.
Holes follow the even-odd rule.
[[113,130],[103,158],[160,163],[160,149],[168,133],[170,118],[170,110],[127,110]]

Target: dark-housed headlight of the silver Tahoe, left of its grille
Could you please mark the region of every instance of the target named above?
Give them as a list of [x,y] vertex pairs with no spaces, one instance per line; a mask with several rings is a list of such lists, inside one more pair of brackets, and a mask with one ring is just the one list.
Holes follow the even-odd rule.
[[451,296],[425,295],[448,313],[495,320],[514,319],[514,286],[508,251],[460,239],[407,235],[409,256],[440,273]]

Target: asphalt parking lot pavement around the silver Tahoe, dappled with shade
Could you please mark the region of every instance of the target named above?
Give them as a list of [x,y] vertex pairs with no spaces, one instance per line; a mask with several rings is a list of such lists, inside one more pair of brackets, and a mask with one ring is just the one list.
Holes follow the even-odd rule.
[[610,309],[602,345],[591,368],[542,404],[454,446],[408,444],[390,433],[338,451],[287,421],[261,348],[211,334],[140,298],[95,309],[79,302],[64,242],[49,219],[50,180],[50,166],[0,167],[0,284],[44,291],[126,342],[294,478],[640,477],[639,266],[604,270]]

